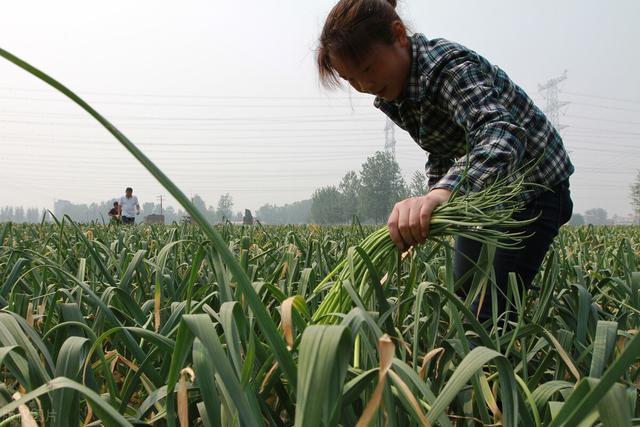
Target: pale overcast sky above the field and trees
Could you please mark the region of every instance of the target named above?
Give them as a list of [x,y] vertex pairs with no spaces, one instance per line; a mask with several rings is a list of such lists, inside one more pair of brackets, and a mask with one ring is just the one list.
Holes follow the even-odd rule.
[[[333,1],[3,2],[0,47],[84,97],[189,196],[234,210],[309,198],[384,148],[373,98],[318,83]],[[640,168],[640,1],[400,0],[409,28],[462,43],[541,107],[562,75],[576,212],[631,212]],[[166,195],[100,125],[0,59],[0,206]],[[400,129],[404,175],[425,154]]]

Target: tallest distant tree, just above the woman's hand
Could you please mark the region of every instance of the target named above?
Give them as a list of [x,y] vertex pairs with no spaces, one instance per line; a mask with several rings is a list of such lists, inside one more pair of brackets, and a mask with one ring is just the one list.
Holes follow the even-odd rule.
[[393,205],[407,195],[400,166],[388,152],[378,151],[367,158],[360,172],[361,215],[376,222],[384,222]]

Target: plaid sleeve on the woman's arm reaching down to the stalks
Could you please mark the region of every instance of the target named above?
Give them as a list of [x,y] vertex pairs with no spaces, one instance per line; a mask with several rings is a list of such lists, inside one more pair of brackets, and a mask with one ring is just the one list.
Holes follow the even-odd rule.
[[[430,188],[453,191],[466,176],[461,191],[477,191],[487,181],[513,173],[524,157],[526,133],[501,103],[492,70],[473,56],[457,58],[445,64],[436,91],[439,105],[465,130],[468,147],[467,155],[450,160]],[[442,160],[433,164],[434,172],[447,165]]]

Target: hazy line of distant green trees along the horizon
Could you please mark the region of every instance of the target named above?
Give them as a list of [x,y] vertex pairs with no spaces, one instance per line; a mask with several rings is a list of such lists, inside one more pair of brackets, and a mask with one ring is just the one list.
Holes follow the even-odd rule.
[[[286,191],[286,189],[283,189]],[[348,171],[337,185],[328,185],[314,191],[310,199],[277,206],[267,203],[253,213],[254,218],[265,224],[344,224],[354,217],[362,222],[383,223],[393,205],[407,197],[426,194],[426,176],[415,171],[407,183],[393,155],[378,151],[362,164],[360,171]],[[640,219],[640,171],[630,186],[631,205]],[[115,199],[100,203],[78,204],[66,200],[54,203],[53,213],[57,217],[69,215],[77,222],[108,221],[107,212]],[[212,223],[225,220],[241,221],[242,212],[233,212],[233,198],[229,193],[220,196],[217,206],[207,206],[198,194],[191,200]],[[141,218],[159,214],[160,205],[153,202],[141,204]],[[0,222],[37,223],[46,218],[47,209],[0,207]],[[165,223],[182,221],[186,213],[182,209],[164,206]],[[583,214],[575,213],[570,224],[608,224],[606,210],[593,208]]]

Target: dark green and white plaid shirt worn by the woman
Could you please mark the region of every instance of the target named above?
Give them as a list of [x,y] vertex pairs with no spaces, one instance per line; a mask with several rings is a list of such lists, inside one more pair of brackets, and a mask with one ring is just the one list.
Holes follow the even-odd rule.
[[[374,105],[427,151],[430,189],[454,190],[466,174],[461,187],[477,191],[536,161],[528,182],[553,187],[573,173],[560,134],[504,71],[444,39],[410,40],[403,98]],[[521,198],[534,198],[533,188]]]

